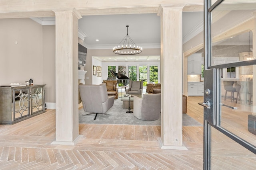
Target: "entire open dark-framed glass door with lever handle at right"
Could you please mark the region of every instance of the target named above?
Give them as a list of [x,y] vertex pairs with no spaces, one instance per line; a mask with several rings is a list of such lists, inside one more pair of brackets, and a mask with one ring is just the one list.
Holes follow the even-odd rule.
[[204,169],[256,169],[256,1],[204,2]]

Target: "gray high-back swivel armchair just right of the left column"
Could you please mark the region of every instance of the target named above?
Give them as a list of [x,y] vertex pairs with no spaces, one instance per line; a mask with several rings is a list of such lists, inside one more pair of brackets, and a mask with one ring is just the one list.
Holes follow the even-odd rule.
[[[115,96],[108,97],[107,87],[105,83],[100,85],[79,85],[79,92],[85,112],[106,114],[113,106]],[[107,114],[108,115],[108,114]]]

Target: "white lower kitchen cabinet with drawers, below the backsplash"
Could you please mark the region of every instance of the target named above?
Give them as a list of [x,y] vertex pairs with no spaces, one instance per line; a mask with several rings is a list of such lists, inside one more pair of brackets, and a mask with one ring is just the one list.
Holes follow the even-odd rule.
[[204,82],[188,82],[188,96],[204,96]]

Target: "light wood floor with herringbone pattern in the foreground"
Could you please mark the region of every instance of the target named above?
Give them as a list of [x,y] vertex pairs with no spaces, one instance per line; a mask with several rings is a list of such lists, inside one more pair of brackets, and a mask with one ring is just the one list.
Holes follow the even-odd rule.
[[[202,97],[188,98],[188,114],[203,123]],[[76,146],[51,145],[55,140],[55,110],[14,125],[0,125],[0,169],[125,170],[202,169],[203,127],[183,127],[188,150],[162,150],[160,126],[80,124]],[[213,169],[255,169],[256,156],[218,136]],[[235,149],[234,149],[235,148]],[[232,149],[232,150],[229,150]]]

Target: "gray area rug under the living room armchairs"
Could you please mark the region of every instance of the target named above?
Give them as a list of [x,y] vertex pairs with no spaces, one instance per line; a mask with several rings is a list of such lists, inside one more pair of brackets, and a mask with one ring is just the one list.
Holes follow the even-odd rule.
[[[123,109],[121,98],[115,99],[114,106],[107,111],[108,114],[98,114],[94,120],[95,114],[88,114],[84,109],[79,109],[79,123],[87,124],[124,124],[124,125],[161,125],[161,120],[144,121],[136,118],[132,113],[126,113],[128,109]],[[133,111],[133,109],[131,109]],[[201,123],[187,114],[182,114],[183,126],[202,126]]]

